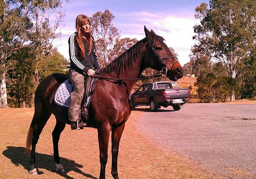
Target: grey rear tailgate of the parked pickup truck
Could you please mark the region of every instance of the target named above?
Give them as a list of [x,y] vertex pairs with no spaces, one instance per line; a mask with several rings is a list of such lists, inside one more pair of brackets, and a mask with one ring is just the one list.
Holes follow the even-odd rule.
[[189,88],[166,89],[167,99],[181,99],[189,97]]

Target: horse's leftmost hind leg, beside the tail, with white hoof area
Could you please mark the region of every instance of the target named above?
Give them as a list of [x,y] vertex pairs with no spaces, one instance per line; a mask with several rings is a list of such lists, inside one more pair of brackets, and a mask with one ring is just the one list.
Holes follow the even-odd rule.
[[[49,109],[46,109],[46,107],[44,107],[41,102],[35,103],[34,117],[32,119],[31,126],[29,129],[31,130],[30,140],[31,140],[31,146],[32,146],[30,160],[29,160],[29,163],[30,163],[29,173],[31,175],[37,175],[37,170],[35,166],[36,144],[51,114],[52,114],[51,111]],[[29,135],[28,135],[27,141],[28,140],[29,140]]]

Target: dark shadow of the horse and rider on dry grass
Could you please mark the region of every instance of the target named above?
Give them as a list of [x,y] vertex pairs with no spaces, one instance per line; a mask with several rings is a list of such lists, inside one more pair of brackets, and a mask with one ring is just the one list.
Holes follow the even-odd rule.
[[[14,147],[14,146],[8,146],[6,150],[4,150],[3,154],[7,158],[9,158],[13,164],[15,165],[22,165],[24,169],[27,171],[30,170],[29,166],[29,158],[24,154],[25,148],[24,147]],[[37,169],[46,169],[50,172],[58,173],[62,177],[65,177],[66,179],[73,179],[72,177],[68,176],[66,173],[69,171],[74,171],[76,173],[80,173],[81,175],[97,179],[96,177],[93,177],[90,174],[82,172],[79,168],[82,168],[83,166],[76,163],[74,160],[69,160],[67,158],[60,157],[61,165],[65,169],[65,173],[58,173],[56,171],[56,165],[53,160],[53,155],[47,155],[47,154],[40,154],[36,152],[36,167]],[[50,165],[49,165],[50,163]],[[38,169],[38,174],[42,174],[43,172]]]

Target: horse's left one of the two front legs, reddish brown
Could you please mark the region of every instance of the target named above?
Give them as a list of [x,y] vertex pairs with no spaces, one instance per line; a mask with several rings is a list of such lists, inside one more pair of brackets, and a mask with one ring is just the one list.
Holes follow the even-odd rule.
[[109,123],[104,123],[98,128],[98,140],[100,149],[101,173],[99,179],[105,179],[105,171],[107,164],[107,148],[109,144],[109,134],[111,127]]

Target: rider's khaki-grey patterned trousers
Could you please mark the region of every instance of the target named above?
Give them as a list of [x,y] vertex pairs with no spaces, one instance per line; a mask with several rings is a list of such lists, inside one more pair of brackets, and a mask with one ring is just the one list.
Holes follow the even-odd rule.
[[69,121],[77,121],[80,119],[80,107],[84,97],[84,75],[69,70],[69,79],[73,84],[73,91],[70,94],[71,101],[68,111]]

